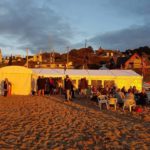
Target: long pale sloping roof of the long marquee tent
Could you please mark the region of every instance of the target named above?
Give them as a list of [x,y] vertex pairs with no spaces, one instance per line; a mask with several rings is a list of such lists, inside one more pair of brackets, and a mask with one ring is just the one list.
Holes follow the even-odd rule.
[[43,76],[130,76],[141,77],[132,70],[87,70],[87,69],[32,69],[33,73]]

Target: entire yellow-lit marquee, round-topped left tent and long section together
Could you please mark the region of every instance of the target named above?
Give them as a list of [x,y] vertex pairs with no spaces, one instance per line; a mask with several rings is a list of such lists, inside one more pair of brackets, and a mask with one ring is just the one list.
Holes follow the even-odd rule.
[[65,78],[69,75],[76,88],[81,78],[88,80],[88,85],[106,85],[113,82],[118,88],[123,86],[128,89],[130,86],[136,86],[139,91],[142,89],[143,77],[132,70],[87,70],[87,69],[28,69],[20,66],[8,66],[0,68],[1,94],[3,81],[5,78],[12,83],[13,95],[29,95],[31,90],[36,90],[36,81],[38,76]]

